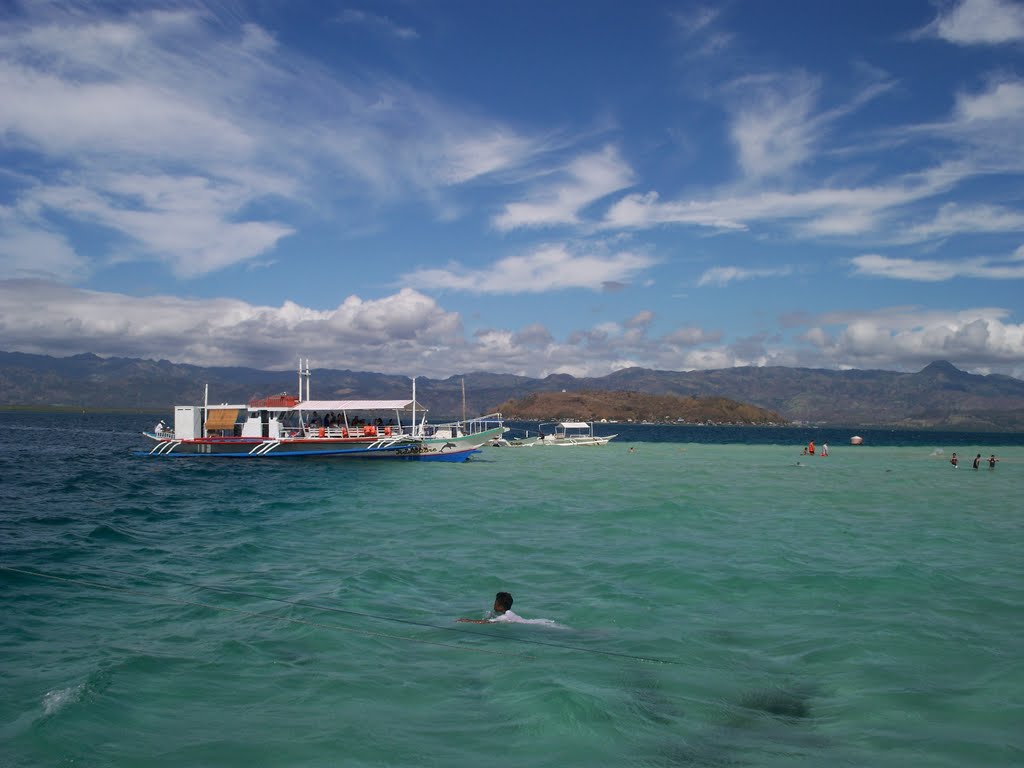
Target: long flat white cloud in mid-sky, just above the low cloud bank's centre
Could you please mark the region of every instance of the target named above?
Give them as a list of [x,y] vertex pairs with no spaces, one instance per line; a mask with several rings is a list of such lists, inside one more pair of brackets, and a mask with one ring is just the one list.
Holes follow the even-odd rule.
[[425,290],[469,291],[484,294],[548,293],[571,289],[600,291],[607,284],[626,282],[656,261],[644,254],[604,253],[557,244],[523,256],[509,256],[486,269],[419,269],[402,282]]

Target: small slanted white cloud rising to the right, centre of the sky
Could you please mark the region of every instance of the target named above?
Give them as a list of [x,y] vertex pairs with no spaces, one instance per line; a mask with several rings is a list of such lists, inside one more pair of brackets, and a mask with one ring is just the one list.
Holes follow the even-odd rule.
[[529,201],[508,204],[495,217],[495,226],[507,231],[518,227],[577,224],[584,208],[633,181],[633,172],[612,146],[577,158],[554,175],[559,180],[546,180]]

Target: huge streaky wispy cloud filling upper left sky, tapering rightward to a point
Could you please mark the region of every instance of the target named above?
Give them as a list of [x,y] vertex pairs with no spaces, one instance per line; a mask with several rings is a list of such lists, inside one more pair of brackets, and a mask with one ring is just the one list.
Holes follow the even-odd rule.
[[[37,175],[13,186],[13,223],[38,227],[37,240],[63,218],[97,226],[119,259],[159,260],[181,278],[272,253],[296,229],[282,211],[342,212],[361,226],[356,205],[414,198],[440,209],[446,189],[540,146],[400,81],[329,71],[257,25],[198,7],[104,17],[29,6],[0,35],[0,146],[38,159]],[[282,202],[273,217],[257,213]],[[66,242],[77,260],[95,251],[73,232]]]

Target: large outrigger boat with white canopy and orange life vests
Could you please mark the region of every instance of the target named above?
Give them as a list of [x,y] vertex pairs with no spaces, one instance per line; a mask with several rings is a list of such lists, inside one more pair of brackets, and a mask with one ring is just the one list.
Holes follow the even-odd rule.
[[[157,444],[145,456],[352,457],[461,462],[503,433],[501,414],[428,424],[412,399],[313,400],[310,372],[299,368],[299,392],[246,404],[176,406],[174,429],[143,432]],[[417,422],[417,418],[420,421]],[[162,426],[158,425],[158,427]]]

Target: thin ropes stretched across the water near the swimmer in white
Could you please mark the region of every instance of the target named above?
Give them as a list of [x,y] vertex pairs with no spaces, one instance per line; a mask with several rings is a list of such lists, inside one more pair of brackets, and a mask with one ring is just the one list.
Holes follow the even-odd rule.
[[[89,567],[92,570],[98,570],[100,572],[113,573],[113,574],[116,574],[116,575],[128,577],[128,578],[131,578],[131,579],[139,579],[140,578],[136,573],[131,573],[131,572],[124,571],[124,570],[118,570],[116,568],[104,568],[102,566],[97,566],[97,565],[92,565],[92,566],[89,566]],[[252,612],[252,611],[245,611],[245,610],[242,610],[242,609],[239,609],[239,608],[228,608],[226,606],[216,606],[216,605],[212,605],[212,604],[208,604],[208,603],[182,600],[182,599],[179,599],[179,598],[170,598],[170,597],[166,597],[165,598],[164,596],[161,596],[161,595],[154,595],[153,593],[146,593],[146,592],[136,591],[136,590],[132,590],[132,589],[127,588],[127,587],[116,587],[116,586],[112,586],[112,585],[104,585],[104,584],[101,584],[101,583],[98,583],[98,582],[89,582],[89,581],[86,581],[86,580],[69,579],[67,577],[54,575],[54,574],[44,573],[44,572],[41,572],[41,571],[24,570],[24,569],[11,567],[11,566],[8,566],[8,565],[2,565],[2,564],[0,564],[0,570],[10,570],[10,571],[18,572],[18,573],[26,573],[26,574],[29,574],[29,575],[35,575],[35,577],[40,577],[40,578],[44,578],[44,579],[53,579],[55,581],[70,582],[70,583],[73,583],[73,584],[85,584],[85,585],[92,586],[92,587],[98,587],[100,589],[106,589],[106,590],[112,590],[112,591],[124,592],[126,594],[135,594],[135,595],[140,595],[140,596],[143,596],[143,597],[153,597],[153,598],[156,598],[158,600],[166,599],[166,600],[169,600],[171,602],[180,603],[180,604],[183,604],[183,605],[199,605],[199,606],[202,606],[202,607],[213,608],[215,610],[232,611],[232,612],[237,612],[237,613],[240,613],[240,614],[243,614],[243,615],[248,615],[248,616],[268,617],[268,618],[273,618],[275,621],[294,622],[296,624],[306,624],[306,625],[309,625],[309,626],[312,626],[312,627],[324,627],[324,628],[327,628],[327,629],[339,629],[339,630],[341,630],[343,632],[353,632],[353,633],[357,633],[357,634],[367,635],[367,636],[370,636],[370,637],[384,637],[384,638],[390,638],[390,639],[396,639],[396,640],[408,640],[410,642],[421,642],[421,643],[425,643],[425,644],[429,644],[429,645],[439,645],[439,646],[442,646],[442,647],[445,647],[445,648],[456,648],[456,649],[459,649],[459,650],[480,650],[480,651],[483,651],[483,649],[479,649],[479,648],[466,648],[465,646],[452,645],[451,643],[441,643],[441,642],[437,642],[437,641],[434,641],[434,640],[421,640],[419,638],[413,638],[413,637],[407,637],[407,636],[400,636],[400,635],[389,635],[389,634],[386,634],[386,633],[374,633],[374,632],[371,632],[369,630],[355,630],[355,629],[349,629],[349,628],[346,628],[346,627],[340,627],[338,625],[319,625],[319,624],[316,624],[315,622],[307,622],[307,621],[304,621],[304,620],[297,620],[297,618],[293,620],[293,618],[287,618],[287,617],[267,616],[265,613],[255,613],[255,612]],[[632,654],[632,653],[622,653],[622,652],[613,651],[613,650],[601,650],[601,649],[598,649],[598,648],[585,648],[585,647],[578,646],[578,645],[566,645],[564,643],[553,643],[553,642],[548,642],[548,641],[545,641],[545,640],[536,640],[534,638],[516,637],[514,635],[492,635],[492,634],[488,634],[488,633],[474,632],[473,630],[467,630],[467,629],[463,629],[461,627],[440,627],[440,626],[437,626],[437,625],[434,625],[434,624],[428,624],[426,622],[416,622],[416,621],[413,621],[411,618],[399,618],[397,616],[383,616],[383,615],[379,615],[379,614],[375,614],[375,613],[367,613],[367,612],[358,611],[358,610],[350,610],[350,609],[347,609],[347,608],[339,608],[339,607],[336,607],[336,606],[333,606],[333,605],[321,605],[321,604],[317,604],[317,603],[309,603],[309,602],[305,602],[303,600],[289,600],[289,599],[281,598],[281,597],[268,597],[266,595],[258,595],[258,594],[255,594],[255,593],[252,593],[252,592],[243,592],[241,590],[230,589],[229,587],[221,587],[220,585],[199,584],[199,583],[196,583],[196,582],[188,582],[188,581],[183,581],[183,580],[169,578],[169,577],[166,577],[166,575],[163,575],[163,574],[161,574],[161,577],[165,581],[167,581],[167,582],[169,582],[171,584],[175,584],[175,585],[181,586],[181,587],[191,587],[194,589],[208,590],[208,591],[211,591],[211,592],[219,592],[219,593],[227,594],[227,595],[237,595],[239,597],[247,597],[247,598],[251,598],[251,599],[254,599],[254,600],[268,600],[270,602],[283,603],[285,605],[291,605],[291,606],[298,607],[298,608],[306,608],[306,609],[311,609],[311,610],[321,610],[321,611],[326,611],[326,612],[331,612],[331,613],[341,613],[341,614],[345,614],[345,615],[359,616],[361,618],[373,618],[373,620],[379,621],[379,622],[390,622],[390,623],[393,623],[393,624],[404,624],[404,625],[410,625],[410,626],[413,626],[413,627],[423,627],[425,629],[440,630],[442,632],[454,632],[454,633],[457,633],[457,634],[460,634],[460,635],[472,635],[474,637],[483,637],[483,638],[487,638],[488,640],[504,640],[504,641],[508,641],[508,642],[526,643],[526,644],[529,644],[529,645],[542,645],[542,646],[547,646],[547,647],[550,647],[550,648],[559,648],[561,650],[571,650],[571,651],[575,651],[575,652],[579,652],[579,653],[592,653],[594,655],[610,656],[610,657],[613,657],[613,658],[624,658],[624,659],[629,659],[631,662],[645,662],[645,663],[649,663],[649,664],[665,664],[665,665],[679,665],[679,664],[681,664],[680,662],[676,662],[676,660],[670,659],[670,658],[656,658],[656,657],[653,657],[653,656],[640,656],[640,655],[635,655],[635,654]],[[141,577],[141,578],[146,578],[146,577]],[[485,652],[499,653],[500,651],[485,651]],[[534,658],[535,657],[535,656],[526,656],[526,655],[518,654],[518,653],[513,653],[511,655],[522,656],[523,658]]]

